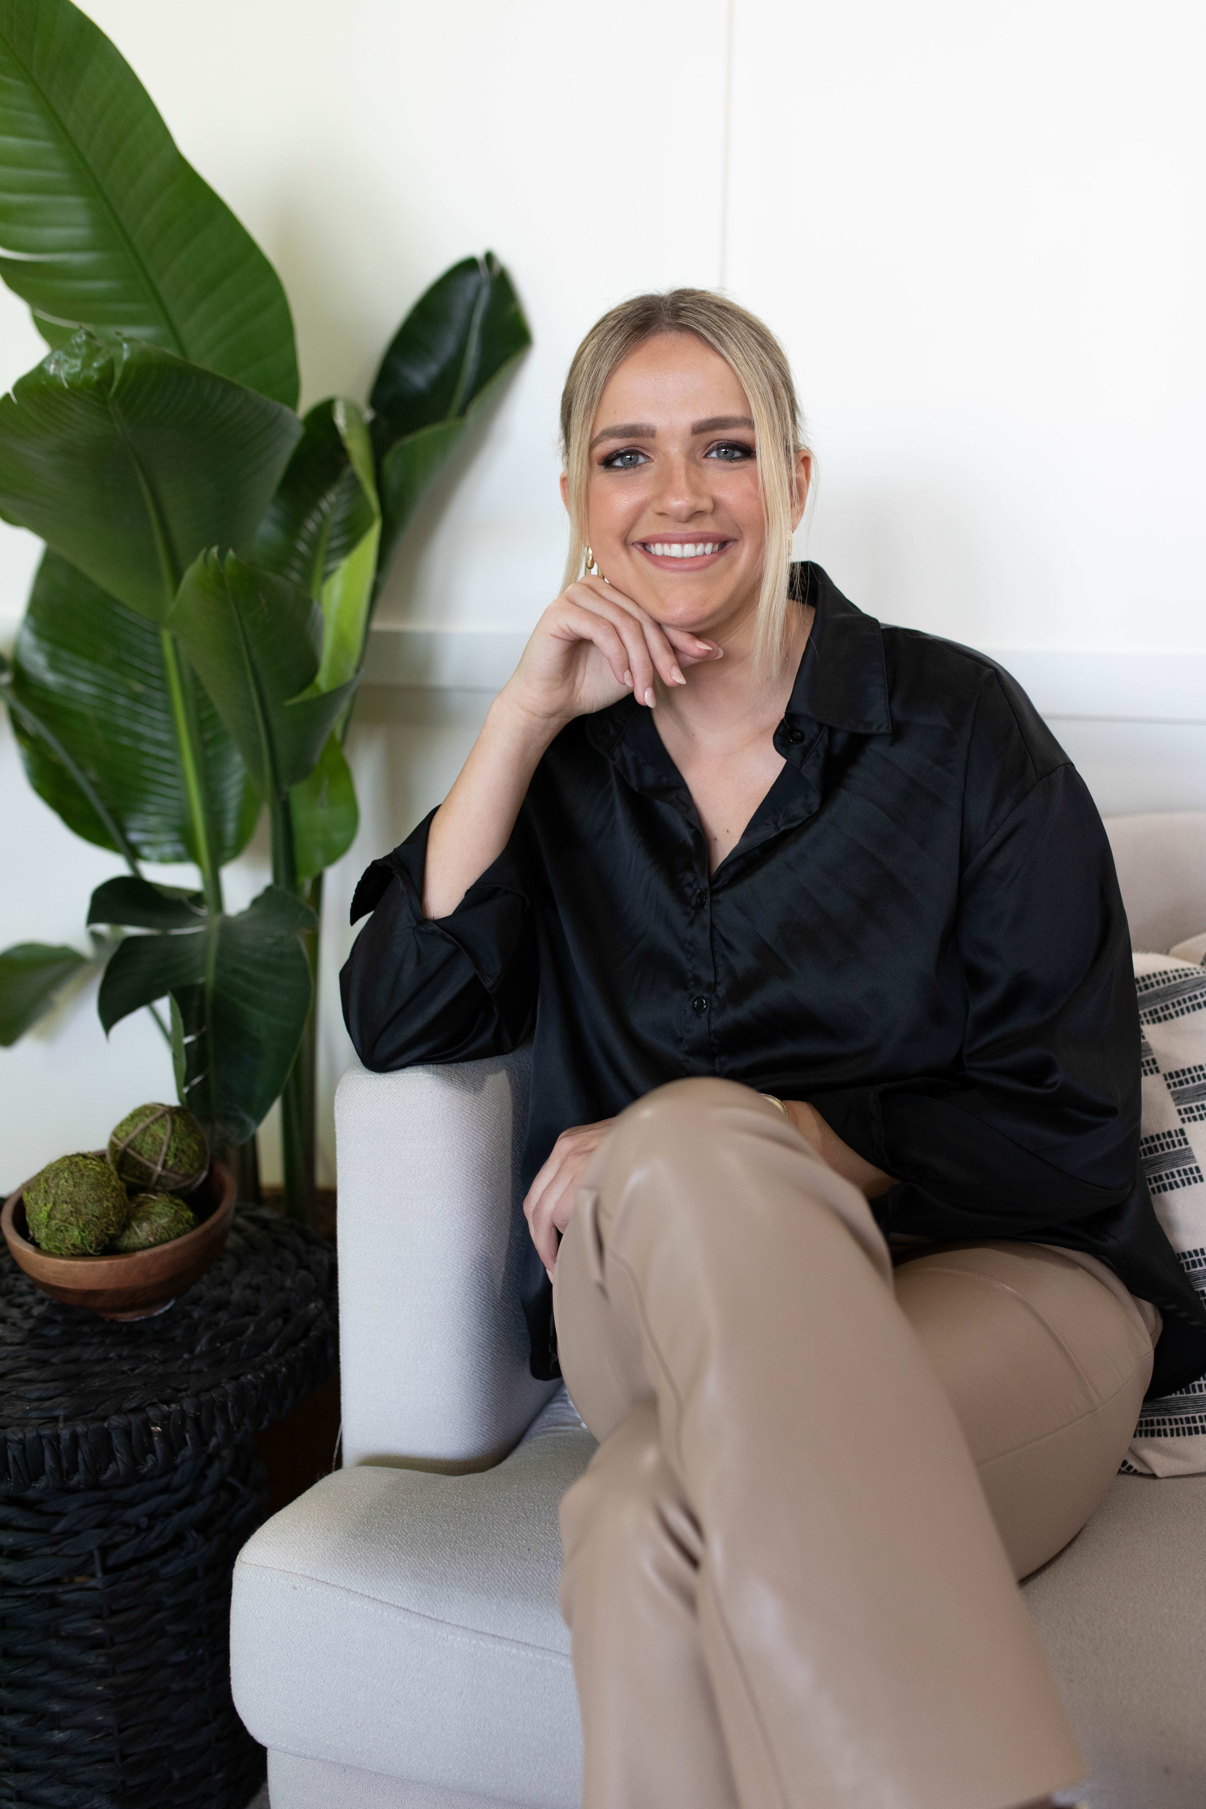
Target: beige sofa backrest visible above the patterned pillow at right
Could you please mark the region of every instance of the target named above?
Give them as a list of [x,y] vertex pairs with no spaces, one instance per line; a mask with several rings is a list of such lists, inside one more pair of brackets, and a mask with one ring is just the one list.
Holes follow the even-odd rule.
[[1130,946],[1164,953],[1206,930],[1206,810],[1107,816]]

